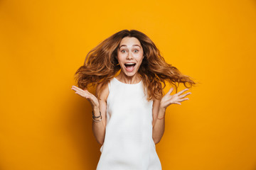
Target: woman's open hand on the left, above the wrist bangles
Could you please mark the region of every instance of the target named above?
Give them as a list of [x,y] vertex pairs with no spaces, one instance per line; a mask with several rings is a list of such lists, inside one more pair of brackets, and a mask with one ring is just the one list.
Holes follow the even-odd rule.
[[80,96],[86,98],[92,105],[92,109],[99,108],[100,104],[99,104],[98,99],[93,94],[91,94],[89,91],[87,91],[87,89],[82,90],[77,86],[72,86],[71,89],[73,89],[75,91],[75,94],[79,94]]

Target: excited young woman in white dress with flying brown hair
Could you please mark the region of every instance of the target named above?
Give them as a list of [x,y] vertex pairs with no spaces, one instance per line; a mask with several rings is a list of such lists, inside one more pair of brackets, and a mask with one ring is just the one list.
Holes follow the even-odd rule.
[[[102,41],[75,74],[78,86],[72,89],[90,101],[92,131],[102,145],[97,170],[161,169],[155,145],[164,135],[166,108],[191,94],[183,89],[171,95],[171,87],[164,95],[165,81],[176,92],[176,83],[196,83],[167,64],[138,30],[121,30]],[[87,91],[95,85],[96,96]]]

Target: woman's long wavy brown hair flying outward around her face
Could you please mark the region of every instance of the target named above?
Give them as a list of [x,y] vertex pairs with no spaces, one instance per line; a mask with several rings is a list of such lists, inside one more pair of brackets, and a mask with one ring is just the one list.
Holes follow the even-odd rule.
[[[191,80],[191,77],[181,74],[176,67],[167,64],[159,49],[147,35],[138,30],[121,30],[103,40],[88,52],[84,65],[75,72],[75,80],[79,88],[87,89],[88,86],[101,84],[101,91],[117,74],[120,69],[117,61],[117,50],[124,37],[137,38],[142,45],[144,59],[138,73],[142,77],[144,87],[147,89],[148,100],[152,98],[160,99],[163,96],[163,89],[166,86],[165,81],[169,81],[170,84],[176,87],[176,93],[178,90],[176,83],[183,83],[186,88],[191,88],[193,84],[196,84]],[[190,86],[187,86],[187,84]]]

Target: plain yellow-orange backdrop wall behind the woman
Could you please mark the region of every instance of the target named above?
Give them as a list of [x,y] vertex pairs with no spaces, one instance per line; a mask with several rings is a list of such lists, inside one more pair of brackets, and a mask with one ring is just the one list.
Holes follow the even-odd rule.
[[0,169],[96,168],[90,103],[71,86],[87,52],[123,29],[200,82],[166,111],[163,169],[256,169],[255,18],[253,0],[1,0]]

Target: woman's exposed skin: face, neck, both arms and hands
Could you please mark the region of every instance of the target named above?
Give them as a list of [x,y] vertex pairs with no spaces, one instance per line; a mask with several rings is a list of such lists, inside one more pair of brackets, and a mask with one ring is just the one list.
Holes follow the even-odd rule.
[[[123,38],[122,41],[120,42],[119,49],[117,52],[117,60],[121,67],[121,72],[116,78],[119,81],[122,81],[123,83],[126,83],[126,84],[139,83],[139,81],[141,81],[141,78],[139,77],[138,69],[142,64],[143,58],[144,58],[144,53],[143,53],[142,45],[140,44],[139,40],[137,38],[129,38],[129,37]],[[129,70],[127,70],[124,65],[127,63],[135,63],[135,67],[131,72],[129,72]],[[96,87],[96,94],[98,93],[101,86],[102,85],[99,84]],[[92,106],[92,111],[94,112],[95,116],[99,116],[101,113],[102,120],[100,122],[95,122],[92,120],[92,132],[95,135],[97,142],[99,142],[100,145],[102,145],[105,140],[105,128],[107,124],[106,112],[107,112],[107,96],[109,94],[108,86],[103,87],[103,90],[100,94],[100,98],[96,98],[93,94],[87,91],[87,89],[82,90],[77,86],[72,86],[71,89],[75,91],[75,94],[78,94],[83,98],[86,98],[90,102]],[[188,100],[188,98],[185,98],[185,97],[188,96],[188,94],[191,94],[191,92],[183,94],[185,91],[188,91],[188,89],[183,89],[182,91],[179,91],[177,94],[171,95],[171,92],[173,90],[174,88],[171,87],[168,93],[165,94],[161,98],[161,100],[153,99],[152,138],[155,144],[159,143],[161,140],[161,137],[164,135],[166,108],[171,104],[181,105],[182,101]],[[95,118],[95,120],[100,120],[100,118]]]

